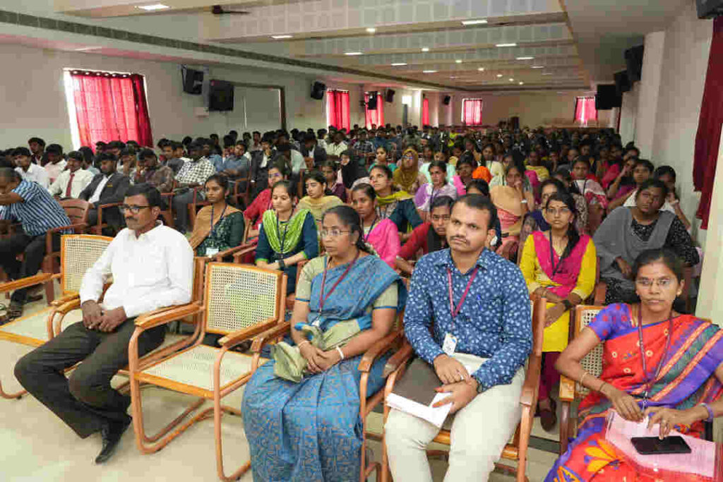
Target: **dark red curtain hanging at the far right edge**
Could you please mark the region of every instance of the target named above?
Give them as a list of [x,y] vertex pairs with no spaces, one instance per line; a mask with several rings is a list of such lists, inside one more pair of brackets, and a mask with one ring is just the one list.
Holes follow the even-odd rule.
[[718,150],[723,126],[723,17],[713,23],[713,40],[708,57],[706,86],[701,102],[701,116],[698,118],[696,151],[693,158],[693,186],[701,191],[701,204],[696,218],[702,220],[701,229],[708,228],[711,211],[713,182],[716,174]]

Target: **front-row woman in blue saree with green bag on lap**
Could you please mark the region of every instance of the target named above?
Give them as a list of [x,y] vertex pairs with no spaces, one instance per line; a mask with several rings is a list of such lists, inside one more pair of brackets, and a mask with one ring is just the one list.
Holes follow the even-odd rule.
[[[244,392],[241,412],[256,482],[359,478],[357,367],[392,330],[406,290],[388,264],[370,254],[351,207],[324,213],[321,238],[325,256],[304,266],[296,287],[294,345],[275,345],[275,359],[257,369]],[[372,366],[370,394],[383,387],[385,361]],[[290,374],[290,366],[303,371]]]

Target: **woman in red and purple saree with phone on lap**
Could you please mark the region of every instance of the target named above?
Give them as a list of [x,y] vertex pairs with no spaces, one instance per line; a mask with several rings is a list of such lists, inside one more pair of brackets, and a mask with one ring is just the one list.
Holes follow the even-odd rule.
[[[703,421],[723,416],[723,331],[692,315],[672,310],[683,286],[683,264],[669,249],[643,251],[636,260],[641,303],[613,304],[562,352],[556,368],[591,392],[578,408],[578,436],[546,482],[709,480],[665,474],[634,465],[605,439],[609,410],[623,418],[702,436]],[[641,343],[642,340],[642,343]],[[604,341],[600,378],[580,360]]]

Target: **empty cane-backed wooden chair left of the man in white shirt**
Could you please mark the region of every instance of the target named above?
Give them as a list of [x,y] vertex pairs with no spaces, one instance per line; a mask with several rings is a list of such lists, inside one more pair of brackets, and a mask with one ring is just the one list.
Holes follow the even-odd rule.
[[[50,340],[54,333],[59,332],[59,330],[55,330],[54,324],[59,327],[60,322],[69,311],[80,308],[78,290],[80,290],[82,277],[85,275],[85,271],[93,266],[93,263],[103,254],[111,241],[113,238],[87,234],[62,236],[59,274],[43,272],[22,280],[0,284],[0,293],[2,293],[58,279],[62,289],[62,296],[54,300],[50,307],[0,326],[0,340],[38,347]],[[20,398],[23,394],[25,394],[25,390],[17,393],[4,392],[2,384],[0,384],[0,397]]]

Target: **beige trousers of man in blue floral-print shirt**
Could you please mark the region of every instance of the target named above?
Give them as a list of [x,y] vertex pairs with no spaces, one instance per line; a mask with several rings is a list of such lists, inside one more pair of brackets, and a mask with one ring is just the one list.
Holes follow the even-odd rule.
[[[524,376],[524,368],[519,369],[512,383],[482,392],[453,416],[445,482],[487,481],[520,422]],[[390,411],[385,437],[395,482],[432,482],[426,449],[438,433],[436,426],[422,418]]]

